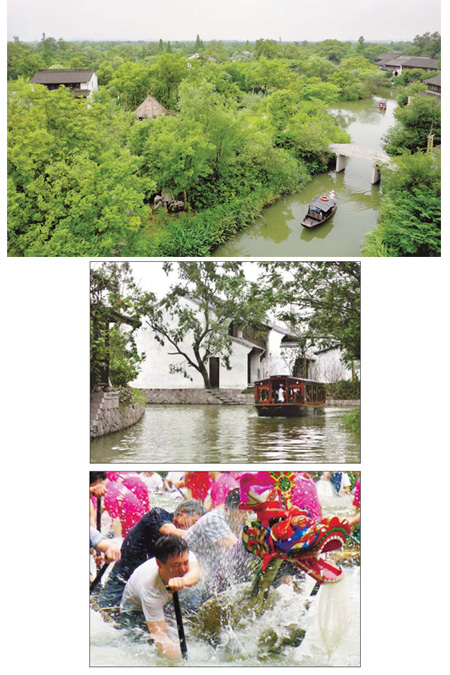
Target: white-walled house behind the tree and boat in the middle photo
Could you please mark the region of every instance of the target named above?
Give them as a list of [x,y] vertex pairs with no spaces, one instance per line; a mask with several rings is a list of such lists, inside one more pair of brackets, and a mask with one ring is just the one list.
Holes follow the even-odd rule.
[[[198,307],[192,298],[184,298],[180,302],[190,307]],[[295,361],[297,347],[295,336],[290,331],[271,321],[255,326],[237,320],[229,320],[228,333],[232,340],[230,356],[231,369],[227,370],[223,359],[219,356],[211,357],[207,368],[211,386],[220,389],[246,389],[255,380],[270,375],[290,375],[292,364]],[[138,351],[144,352],[145,361],[142,364],[138,377],[131,382],[132,387],[138,389],[203,389],[204,382],[200,373],[194,368],[188,368],[192,379],[184,377],[182,373],[171,373],[171,364],[185,364],[183,357],[174,354],[174,348],[165,341],[161,345],[149,327],[142,327],[136,333]],[[186,338],[180,343],[180,348],[190,357],[193,357],[191,343]],[[193,358],[195,361],[195,359]],[[351,372],[340,364],[338,349],[322,350],[308,354],[310,364],[309,377],[331,382],[335,379],[351,379]],[[333,365],[334,364],[334,365]],[[331,373],[340,373],[342,377],[331,378]],[[317,375],[323,375],[318,377]]]

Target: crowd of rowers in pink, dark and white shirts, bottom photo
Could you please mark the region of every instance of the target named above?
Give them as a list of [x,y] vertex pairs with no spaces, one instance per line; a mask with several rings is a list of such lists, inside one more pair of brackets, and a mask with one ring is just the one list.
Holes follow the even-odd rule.
[[[114,562],[96,605],[102,610],[120,607],[124,621],[143,616],[164,656],[180,657],[164,615],[174,591],[186,589],[181,600],[189,611],[230,583],[249,580],[258,565],[242,544],[242,528],[251,511],[239,508],[241,476],[242,472],[206,471],[169,472],[164,479],[156,472],[90,474],[91,550],[106,564]],[[359,491],[359,482],[356,488]],[[173,512],[150,506],[149,495],[162,491],[183,498]],[[316,484],[309,475],[295,474],[292,495],[294,503],[320,520]],[[359,508],[359,492],[354,503]],[[120,524],[115,534],[123,538],[121,545],[96,527],[99,507]]]

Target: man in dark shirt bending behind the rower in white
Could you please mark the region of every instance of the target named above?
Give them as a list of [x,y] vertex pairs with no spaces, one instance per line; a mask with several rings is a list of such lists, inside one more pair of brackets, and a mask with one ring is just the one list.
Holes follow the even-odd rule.
[[105,587],[98,597],[100,607],[115,607],[120,603],[123,589],[134,570],[155,555],[155,545],[161,535],[182,536],[205,513],[201,502],[181,502],[174,513],[162,508],[151,509],[125,537],[122,559],[114,565]]

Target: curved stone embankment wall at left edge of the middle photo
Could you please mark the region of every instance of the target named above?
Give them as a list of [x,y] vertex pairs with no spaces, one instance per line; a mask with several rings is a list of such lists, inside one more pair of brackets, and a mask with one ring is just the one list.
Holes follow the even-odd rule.
[[116,391],[95,392],[91,398],[91,438],[131,427],[144,412],[144,403],[120,405]]

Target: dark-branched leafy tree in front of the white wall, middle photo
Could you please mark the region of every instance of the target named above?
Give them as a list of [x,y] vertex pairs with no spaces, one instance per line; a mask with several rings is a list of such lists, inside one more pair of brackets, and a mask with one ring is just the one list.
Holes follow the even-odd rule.
[[175,357],[172,373],[192,379],[190,373],[197,371],[209,389],[210,357],[219,357],[225,368],[231,368],[230,322],[259,322],[267,298],[255,293],[255,284],[239,262],[164,263],[164,270],[170,273],[174,266],[178,280],[170,291],[160,300],[148,294],[144,325]]

